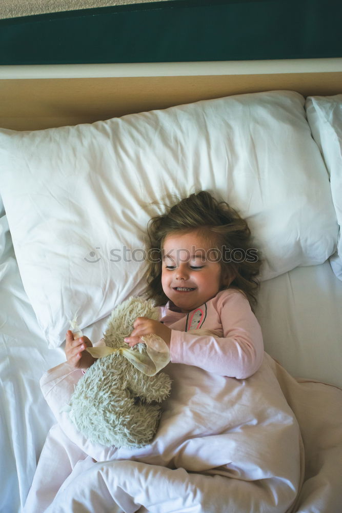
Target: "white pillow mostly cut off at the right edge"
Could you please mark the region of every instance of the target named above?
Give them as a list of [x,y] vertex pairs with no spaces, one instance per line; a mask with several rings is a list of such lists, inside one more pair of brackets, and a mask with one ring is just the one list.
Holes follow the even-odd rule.
[[[324,156],[330,175],[337,221],[342,226],[342,94],[309,96],[306,101],[308,122],[314,140]],[[342,238],[338,236],[336,253],[330,258],[337,278],[342,280]]]

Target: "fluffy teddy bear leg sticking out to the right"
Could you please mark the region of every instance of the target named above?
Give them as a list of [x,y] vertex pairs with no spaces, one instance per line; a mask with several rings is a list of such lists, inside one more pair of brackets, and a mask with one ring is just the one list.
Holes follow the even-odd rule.
[[146,376],[137,371],[130,376],[132,392],[150,403],[151,401],[164,401],[171,390],[171,379],[165,372],[159,372],[155,376]]

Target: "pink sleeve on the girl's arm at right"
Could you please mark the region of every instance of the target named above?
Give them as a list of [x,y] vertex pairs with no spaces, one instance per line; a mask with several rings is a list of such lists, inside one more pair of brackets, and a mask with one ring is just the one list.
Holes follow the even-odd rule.
[[172,330],[171,362],[195,365],[221,376],[249,378],[260,367],[264,343],[260,325],[248,300],[240,293],[217,302],[223,337]]

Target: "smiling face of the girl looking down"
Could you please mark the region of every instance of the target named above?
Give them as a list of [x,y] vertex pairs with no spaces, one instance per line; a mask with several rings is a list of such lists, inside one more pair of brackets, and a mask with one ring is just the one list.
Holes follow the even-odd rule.
[[163,247],[162,287],[182,312],[212,299],[225,285],[215,253],[199,231],[170,234]]

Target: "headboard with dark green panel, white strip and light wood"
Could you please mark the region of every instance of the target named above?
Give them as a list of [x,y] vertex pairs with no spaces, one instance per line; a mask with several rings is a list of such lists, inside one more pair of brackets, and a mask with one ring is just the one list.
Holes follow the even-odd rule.
[[336,0],[172,0],[0,19],[0,126],[275,89],[341,93],[341,15]]

